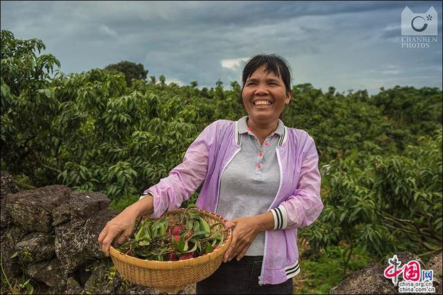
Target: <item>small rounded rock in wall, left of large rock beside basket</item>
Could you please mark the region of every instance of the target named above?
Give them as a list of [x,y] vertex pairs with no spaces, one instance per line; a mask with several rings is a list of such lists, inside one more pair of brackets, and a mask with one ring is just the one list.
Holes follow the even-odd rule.
[[33,232],[17,243],[15,251],[24,263],[50,260],[55,256],[54,240],[55,237],[51,234]]

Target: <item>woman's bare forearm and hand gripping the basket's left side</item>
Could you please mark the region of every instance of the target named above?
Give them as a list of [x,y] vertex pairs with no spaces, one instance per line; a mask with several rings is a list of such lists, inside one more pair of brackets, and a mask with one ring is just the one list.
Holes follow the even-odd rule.
[[[154,198],[147,196],[127,207],[118,216],[107,222],[105,228],[98,235],[100,250],[103,251],[106,257],[109,257],[109,245],[111,243],[116,247],[122,245],[134,231],[138,216],[152,213],[153,207]],[[114,239],[116,240],[114,241]]]

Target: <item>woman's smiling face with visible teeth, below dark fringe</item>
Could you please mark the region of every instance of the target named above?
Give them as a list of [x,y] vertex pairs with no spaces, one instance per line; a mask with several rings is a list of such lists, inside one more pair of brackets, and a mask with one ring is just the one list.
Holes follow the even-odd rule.
[[291,91],[287,93],[282,78],[267,74],[263,65],[246,80],[242,98],[250,119],[269,124],[278,120],[284,105],[289,104]]

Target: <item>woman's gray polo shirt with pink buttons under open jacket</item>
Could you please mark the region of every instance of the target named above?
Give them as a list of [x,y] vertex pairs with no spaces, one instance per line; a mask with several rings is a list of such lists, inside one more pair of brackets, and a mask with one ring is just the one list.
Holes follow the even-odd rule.
[[[241,149],[221,173],[217,214],[226,220],[266,213],[280,185],[280,169],[275,148],[284,133],[278,120],[277,129],[266,137],[263,146],[246,124],[248,116],[238,123]],[[257,234],[245,256],[264,254],[264,231]]]

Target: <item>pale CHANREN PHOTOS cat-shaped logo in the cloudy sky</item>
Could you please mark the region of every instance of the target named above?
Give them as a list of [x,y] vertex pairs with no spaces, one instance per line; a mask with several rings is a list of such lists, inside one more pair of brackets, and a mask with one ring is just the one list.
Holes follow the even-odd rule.
[[[437,10],[414,13],[408,6],[401,12],[401,48],[431,48],[437,43]],[[435,37],[434,37],[435,36]]]

